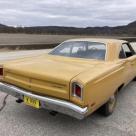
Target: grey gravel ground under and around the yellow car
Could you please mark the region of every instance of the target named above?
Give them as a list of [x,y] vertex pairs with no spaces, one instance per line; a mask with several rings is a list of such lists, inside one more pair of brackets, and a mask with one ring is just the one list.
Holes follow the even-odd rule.
[[[22,52],[22,55],[33,55],[29,53]],[[17,53],[15,57],[20,56]],[[51,116],[49,111],[17,104],[12,96],[8,96],[3,106],[5,96],[0,93],[0,107],[3,107],[0,136],[136,136],[136,82],[119,93],[112,116],[105,118],[94,113],[82,121],[63,114]]]

